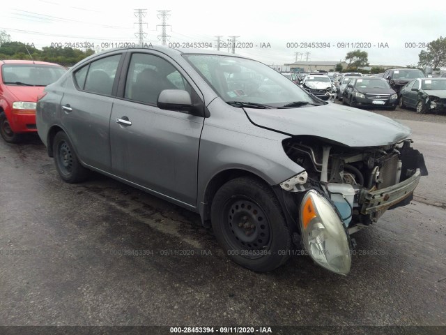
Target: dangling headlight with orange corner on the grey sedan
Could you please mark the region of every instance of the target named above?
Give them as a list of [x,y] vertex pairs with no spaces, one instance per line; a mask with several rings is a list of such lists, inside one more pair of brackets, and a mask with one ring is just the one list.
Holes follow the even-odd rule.
[[332,204],[314,190],[300,204],[300,228],[314,262],[337,274],[348,274],[351,253],[344,224]]

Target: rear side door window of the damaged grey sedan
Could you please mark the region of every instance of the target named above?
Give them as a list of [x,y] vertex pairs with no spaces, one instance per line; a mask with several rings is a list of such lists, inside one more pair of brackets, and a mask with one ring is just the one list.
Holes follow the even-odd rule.
[[[121,54],[93,61],[86,74],[84,90],[98,94],[106,94],[108,96],[112,95],[114,77],[116,70],[118,70],[119,59],[121,59]],[[79,70],[79,72],[83,69]],[[82,80],[82,73],[75,74],[76,80],[77,75],[79,75],[79,80]],[[80,84],[79,87],[81,87]]]

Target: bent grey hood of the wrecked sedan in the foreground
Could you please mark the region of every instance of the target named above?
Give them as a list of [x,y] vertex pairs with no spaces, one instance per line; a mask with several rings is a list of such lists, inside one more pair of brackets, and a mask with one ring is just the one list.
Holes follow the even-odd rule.
[[312,135],[348,147],[378,147],[394,144],[412,133],[388,117],[333,103],[317,107],[280,110],[245,108],[256,126],[287,135]]

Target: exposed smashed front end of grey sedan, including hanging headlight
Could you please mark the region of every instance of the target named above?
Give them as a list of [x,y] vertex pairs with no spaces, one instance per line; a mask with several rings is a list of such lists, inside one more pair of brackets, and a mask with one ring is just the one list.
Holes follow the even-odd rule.
[[348,147],[312,135],[284,140],[286,155],[305,168],[280,184],[298,216],[300,240],[312,259],[338,274],[351,267],[350,234],[378,221],[387,209],[413,198],[427,175],[411,140],[378,147]]

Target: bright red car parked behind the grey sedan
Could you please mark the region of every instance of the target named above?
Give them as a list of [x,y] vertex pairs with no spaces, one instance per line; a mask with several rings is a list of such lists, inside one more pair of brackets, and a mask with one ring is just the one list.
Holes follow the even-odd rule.
[[66,69],[45,61],[0,61],[0,134],[6,142],[36,132],[36,102]]

